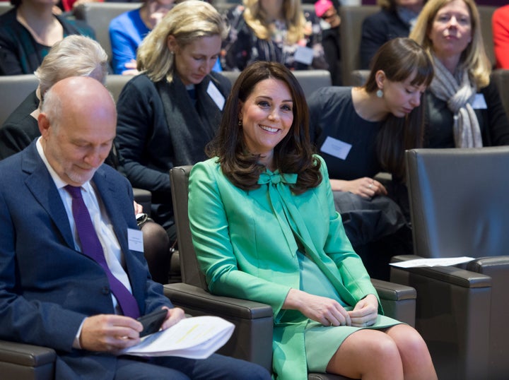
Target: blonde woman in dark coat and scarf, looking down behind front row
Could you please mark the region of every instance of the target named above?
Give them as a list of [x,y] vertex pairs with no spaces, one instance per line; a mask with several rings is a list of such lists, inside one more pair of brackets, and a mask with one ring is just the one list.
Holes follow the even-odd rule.
[[117,102],[116,144],[131,184],[152,192],[151,217],[175,241],[169,170],[205,158],[216,133],[230,81],[211,72],[226,32],[204,1],[174,6],[144,39],[141,72]]

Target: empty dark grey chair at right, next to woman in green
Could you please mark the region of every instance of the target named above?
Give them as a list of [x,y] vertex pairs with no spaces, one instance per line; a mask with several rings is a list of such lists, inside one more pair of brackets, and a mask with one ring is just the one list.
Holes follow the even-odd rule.
[[439,379],[509,374],[509,147],[406,152],[416,257],[472,256],[459,267],[391,269],[415,287],[416,328]]

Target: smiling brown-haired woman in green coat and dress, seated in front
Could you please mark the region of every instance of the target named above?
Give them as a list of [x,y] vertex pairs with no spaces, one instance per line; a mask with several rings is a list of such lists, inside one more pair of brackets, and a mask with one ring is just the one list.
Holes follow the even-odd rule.
[[312,154],[291,71],[267,61],[244,69],[207,148],[189,179],[194,248],[213,294],[271,305],[274,375],[436,379],[419,333],[382,315]]

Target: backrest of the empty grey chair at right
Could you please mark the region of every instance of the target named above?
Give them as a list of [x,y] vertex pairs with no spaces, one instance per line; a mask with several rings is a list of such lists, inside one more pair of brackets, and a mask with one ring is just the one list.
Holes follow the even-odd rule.
[[499,256],[509,247],[509,147],[406,152],[414,252]]

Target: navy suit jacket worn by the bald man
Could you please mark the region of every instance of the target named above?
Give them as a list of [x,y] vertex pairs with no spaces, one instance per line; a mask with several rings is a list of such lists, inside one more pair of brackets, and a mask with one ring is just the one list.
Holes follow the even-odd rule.
[[[57,379],[113,379],[116,357],[74,350],[84,318],[113,314],[107,276],[74,249],[62,198],[35,141],[0,162],[0,339],[57,350]],[[107,165],[93,177],[115,234],[141,314],[172,307],[151,280],[144,254],[128,247],[137,229],[131,185]]]

